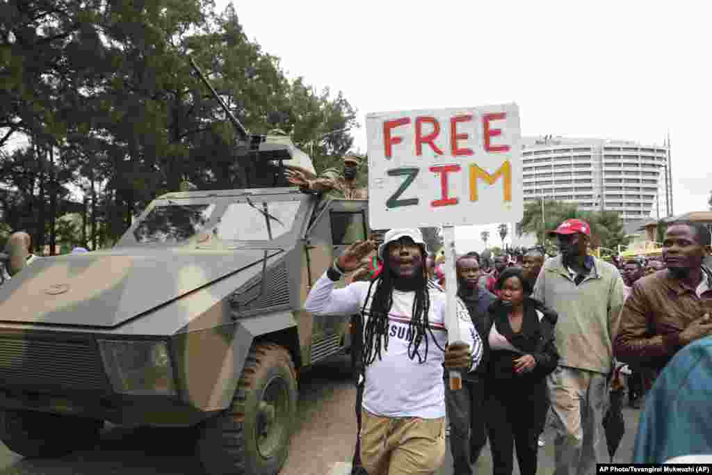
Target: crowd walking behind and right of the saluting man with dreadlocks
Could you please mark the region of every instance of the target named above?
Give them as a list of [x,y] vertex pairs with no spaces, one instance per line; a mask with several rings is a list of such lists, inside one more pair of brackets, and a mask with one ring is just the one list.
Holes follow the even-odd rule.
[[[708,231],[677,222],[666,231],[663,259],[610,263],[590,255],[590,233],[587,223],[572,219],[550,233],[560,251],[555,256],[532,248],[456,257],[454,285],[482,348],[476,369],[466,372],[461,389],[451,390],[449,369],[443,372],[454,474],[473,473],[488,439],[493,474],[511,474],[514,454],[520,474],[535,474],[546,424],[555,434],[555,475],[594,474],[597,463],[612,459],[610,448],[605,453],[610,435],[604,434],[604,419],[610,415],[611,392],[621,390],[627,391],[634,408],[642,407],[646,393],[656,401],[647,403],[642,414],[635,461],[661,463],[676,456],[712,454],[712,447],[700,442],[709,439],[708,427],[700,426],[709,417],[683,418],[688,430],[681,432],[670,422],[674,413],[661,409],[667,407],[661,404],[690,400],[663,395],[674,390],[670,384],[664,389],[654,385],[657,379],[673,380],[666,377],[666,366],[672,361],[670,367],[676,367],[674,362],[691,348],[697,355],[683,359],[685,367],[696,365],[698,371],[712,375],[712,365],[699,368],[700,361],[712,360],[700,357],[712,344],[701,348],[696,343],[710,340],[703,337],[712,334],[712,270],[703,265],[711,249]],[[380,247],[389,245],[382,234],[372,239]],[[405,249],[416,242],[405,239],[398,246]],[[422,251],[426,255],[424,246]],[[356,280],[370,285],[384,272],[382,260],[373,254],[361,266]],[[441,256],[424,259],[431,291],[442,292],[451,285],[443,267]],[[676,297],[671,298],[671,292]],[[363,315],[367,312],[360,318]],[[680,358],[675,357],[678,353]],[[360,371],[362,391],[363,367]],[[689,391],[708,394],[710,381]],[[685,384],[682,387],[689,386]],[[695,398],[692,402],[701,399]],[[359,400],[357,413],[365,407]],[[703,407],[709,408],[708,402]],[[696,407],[696,414],[700,412]],[[656,429],[666,424],[667,432]],[[395,454],[397,448],[389,450]],[[352,473],[408,473],[393,466],[371,466],[361,459],[364,454],[357,446]]]

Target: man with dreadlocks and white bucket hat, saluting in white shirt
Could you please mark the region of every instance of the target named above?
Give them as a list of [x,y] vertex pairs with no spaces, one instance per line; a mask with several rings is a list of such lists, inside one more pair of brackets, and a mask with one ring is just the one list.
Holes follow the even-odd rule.
[[[315,315],[364,315],[360,451],[368,474],[433,474],[445,455],[443,363],[462,372],[476,369],[482,343],[459,299],[461,337],[449,328],[446,294],[428,287],[418,229],[387,232],[375,281],[335,289],[374,247],[365,241],[346,249],[315,282],[305,308]],[[464,342],[449,342],[448,335]]]

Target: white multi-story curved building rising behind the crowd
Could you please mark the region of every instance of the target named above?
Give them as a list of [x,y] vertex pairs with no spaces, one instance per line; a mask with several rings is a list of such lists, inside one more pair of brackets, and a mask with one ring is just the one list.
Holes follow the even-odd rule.
[[574,202],[626,222],[672,214],[667,145],[552,136],[522,143],[525,202]]

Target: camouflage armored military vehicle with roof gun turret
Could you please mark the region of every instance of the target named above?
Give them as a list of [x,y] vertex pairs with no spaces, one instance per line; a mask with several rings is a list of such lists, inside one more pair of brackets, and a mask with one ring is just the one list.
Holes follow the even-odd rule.
[[207,473],[278,473],[298,374],[348,345],[348,318],[305,298],[366,239],[367,202],[279,186],[301,152],[248,139],[251,183],[271,187],[164,194],[112,249],[39,259],[0,287],[9,449],[61,456],[105,421],[196,427]]

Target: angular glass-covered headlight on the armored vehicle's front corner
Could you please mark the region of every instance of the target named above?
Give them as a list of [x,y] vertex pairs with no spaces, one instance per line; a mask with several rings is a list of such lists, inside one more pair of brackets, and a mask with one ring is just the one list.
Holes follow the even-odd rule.
[[104,367],[116,392],[175,395],[173,370],[164,341],[98,340]]

